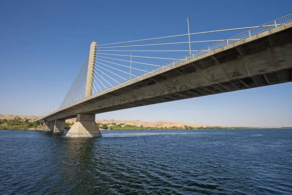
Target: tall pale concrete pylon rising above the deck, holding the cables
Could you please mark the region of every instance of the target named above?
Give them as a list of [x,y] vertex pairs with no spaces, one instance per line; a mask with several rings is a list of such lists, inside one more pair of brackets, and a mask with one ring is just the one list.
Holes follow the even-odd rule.
[[92,83],[93,83],[92,77],[94,74],[94,59],[95,59],[95,53],[96,53],[96,45],[97,45],[97,43],[94,41],[90,45],[87,80],[86,80],[84,98],[91,96],[91,93],[92,93]]

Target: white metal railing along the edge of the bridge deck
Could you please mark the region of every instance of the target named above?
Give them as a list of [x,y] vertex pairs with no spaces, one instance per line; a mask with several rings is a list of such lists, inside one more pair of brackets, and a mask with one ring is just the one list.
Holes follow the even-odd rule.
[[275,27],[277,27],[279,25],[282,25],[282,24],[287,23],[287,22],[290,22],[290,21],[292,21],[292,14],[287,15],[287,16],[284,16],[284,17],[282,17],[280,19],[277,19],[277,20],[273,20],[273,21],[268,22],[266,24],[263,24],[263,25],[261,25],[259,27],[256,27],[256,28],[253,28],[253,29],[248,30],[246,32],[240,33],[240,34],[238,34],[238,35],[236,35],[234,37],[231,37],[229,39],[225,39],[223,41],[220,41],[218,43],[215,43],[213,45],[210,45],[208,47],[205,47],[205,48],[203,48],[203,49],[201,49],[201,50],[199,50],[197,52],[194,52],[192,54],[186,55],[186,56],[184,56],[184,57],[182,57],[180,59],[173,60],[173,61],[171,61],[169,63],[166,63],[166,64],[164,64],[164,65],[162,65],[162,66],[160,66],[158,68],[154,68],[154,69],[152,69],[152,70],[150,70],[150,71],[148,71],[146,73],[143,73],[141,75],[138,75],[138,76],[136,76],[134,78],[130,78],[130,79],[124,81],[124,82],[121,82],[121,83],[116,84],[116,85],[113,85],[113,86],[111,86],[111,87],[109,87],[107,89],[104,89],[104,90],[102,90],[100,92],[97,92],[94,95],[101,94],[101,93],[104,93],[106,91],[112,90],[112,89],[117,88],[119,86],[125,85],[125,84],[127,84],[127,83],[129,83],[131,81],[134,81],[134,80],[136,80],[138,78],[143,78],[143,77],[146,77],[146,76],[148,76],[150,74],[156,73],[158,71],[167,69],[168,67],[172,67],[172,66],[174,66],[174,65],[176,65],[178,63],[181,63],[182,60],[183,61],[186,61],[187,59],[192,59],[192,58],[201,56],[201,55],[203,55],[205,53],[208,53],[210,51],[216,50],[216,49],[218,49],[220,47],[224,47],[224,46],[229,45],[231,43],[234,43],[234,42],[236,42],[238,40],[245,39],[245,38],[251,37],[253,35],[256,35],[258,33],[261,33],[261,32],[267,31],[267,30],[270,30],[272,28],[275,28]]

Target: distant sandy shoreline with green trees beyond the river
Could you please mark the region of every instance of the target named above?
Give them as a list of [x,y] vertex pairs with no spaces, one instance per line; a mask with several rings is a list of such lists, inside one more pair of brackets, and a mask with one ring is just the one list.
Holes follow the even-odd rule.
[[[38,130],[42,128],[36,122],[38,116],[25,116],[25,115],[0,115],[0,129],[3,130]],[[69,130],[75,118],[67,119],[65,129]],[[145,122],[141,120],[95,120],[100,130],[193,130],[193,129],[292,129],[292,127],[244,127],[244,126],[211,126],[201,124],[187,124],[183,122],[173,121],[156,121]]]

